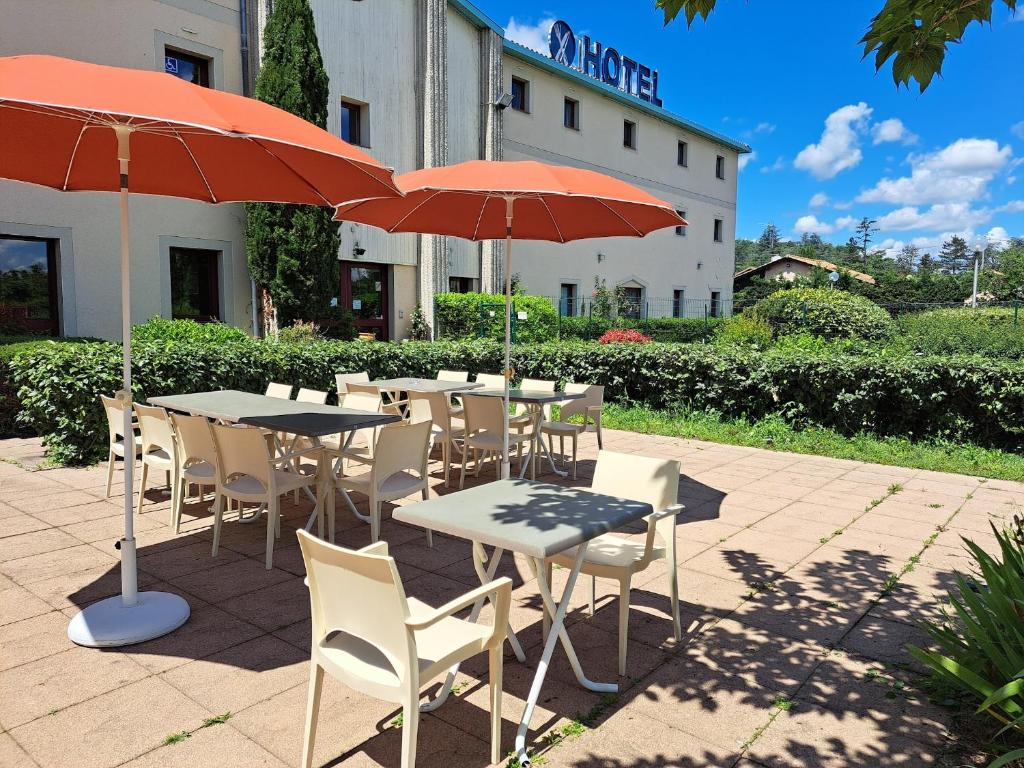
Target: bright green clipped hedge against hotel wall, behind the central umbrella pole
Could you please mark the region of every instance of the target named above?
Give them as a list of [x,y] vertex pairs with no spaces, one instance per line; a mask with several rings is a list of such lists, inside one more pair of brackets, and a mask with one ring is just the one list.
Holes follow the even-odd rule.
[[[526,312],[526,319],[518,318]],[[505,297],[489,293],[439,293],[434,297],[438,339],[505,339]],[[543,296],[512,297],[515,341],[529,344],[558,338],[558,312]]]

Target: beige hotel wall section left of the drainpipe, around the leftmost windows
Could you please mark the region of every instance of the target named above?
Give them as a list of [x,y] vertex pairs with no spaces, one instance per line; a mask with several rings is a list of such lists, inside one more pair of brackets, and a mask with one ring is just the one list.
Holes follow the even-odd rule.
[[[232,0],[0,0],[0,55],[50,53],[163,71],[164,46],[212,58],[212,85],[242,92]],[[116,162],[116,161],[115,161]],[[118,197],[0,181],[0,234],[58,238],[62,332],[120,339]],[[251,323],[241,205],[131,196],[132,321],[170,316],[172,245],[220,250],[222,319]],[[174,238],[180,240],[173,240]]]

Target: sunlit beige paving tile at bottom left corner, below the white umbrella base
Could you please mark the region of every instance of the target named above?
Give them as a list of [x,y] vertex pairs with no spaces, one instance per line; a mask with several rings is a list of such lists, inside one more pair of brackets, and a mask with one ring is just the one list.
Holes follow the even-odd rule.
[[11,735],[40,765],[67,764],[73,746],[76,768],[113,768],[211,716],[163,680],[150,677],[34,720]]

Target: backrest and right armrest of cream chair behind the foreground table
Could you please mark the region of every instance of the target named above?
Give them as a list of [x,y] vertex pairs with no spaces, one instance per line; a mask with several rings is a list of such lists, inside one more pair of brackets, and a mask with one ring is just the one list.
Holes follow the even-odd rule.
[[[659,512],[676,504],[679,499],[679,472],[680,464],[675,459],[599,451],[590,489],[635,502],[646,502],[655,512]],[[644,562],[650,560],[655,530],[666,542],[672,538],[674,544],[675,527],[676,519],[672,516],[654,524],[648,521]]]

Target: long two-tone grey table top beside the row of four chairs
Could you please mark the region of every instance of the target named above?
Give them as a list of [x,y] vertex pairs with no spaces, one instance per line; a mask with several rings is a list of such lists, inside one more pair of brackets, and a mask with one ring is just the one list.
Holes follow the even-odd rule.
[[304,437],[323,437],[353,429],[379,427],[401,420],[393,414],[355,411],[316,402],[297,402],[237,389],[150,397],[148,402],[169,411],[250,424],[254,427],[263,427],[275,432],[291,432]]

